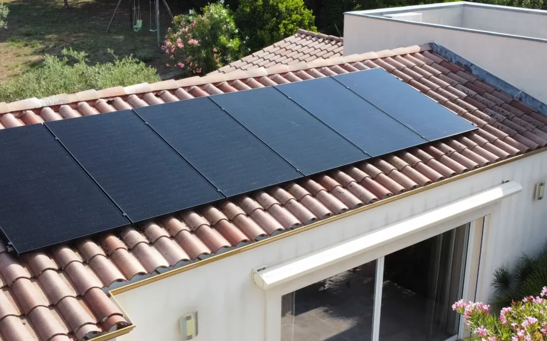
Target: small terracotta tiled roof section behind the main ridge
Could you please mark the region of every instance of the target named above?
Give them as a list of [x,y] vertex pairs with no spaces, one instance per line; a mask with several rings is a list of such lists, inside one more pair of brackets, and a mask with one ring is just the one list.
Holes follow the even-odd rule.
[[344,38],[323,33],[315,33],[298,29],[291,35],[274,45],[254,52],[238,61],[225,65],[212,73],[230,73],[234,70],[250,70],[259,67],[270,68],[277,64],[295,64],[310,62],[313,59],[341,57],[344,49]]

